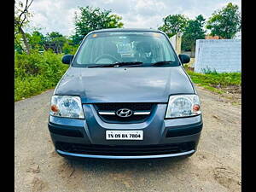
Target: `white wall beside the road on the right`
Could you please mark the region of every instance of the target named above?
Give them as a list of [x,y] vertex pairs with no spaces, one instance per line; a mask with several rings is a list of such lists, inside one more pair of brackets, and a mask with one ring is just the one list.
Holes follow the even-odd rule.
[[195,46],[195,72],[203,68],[218,73],[241,72],[241,39],[198,39]]

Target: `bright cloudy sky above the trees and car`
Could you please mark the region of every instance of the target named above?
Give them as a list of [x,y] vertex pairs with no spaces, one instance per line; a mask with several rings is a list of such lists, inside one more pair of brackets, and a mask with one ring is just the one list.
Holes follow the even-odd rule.
[[27,31],[36,27],[44,34],[61,32],[70,36],[74,34],[74,13],[86,6],[111,9],[112,14],[122,17],[125,28],[156,29],[167,15],[182,14],[189,19],[203,15],[207,19],[227,3],[235,3],[241,11],[241,0],[34,0],[29,9],[33,16]]

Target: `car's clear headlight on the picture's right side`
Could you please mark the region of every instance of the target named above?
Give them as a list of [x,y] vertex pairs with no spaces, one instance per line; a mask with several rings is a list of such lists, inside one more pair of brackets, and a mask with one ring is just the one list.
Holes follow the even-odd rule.
[[197,95],[178,95],[169,97],[166,118],[195,116],[200,113],[200,101]]

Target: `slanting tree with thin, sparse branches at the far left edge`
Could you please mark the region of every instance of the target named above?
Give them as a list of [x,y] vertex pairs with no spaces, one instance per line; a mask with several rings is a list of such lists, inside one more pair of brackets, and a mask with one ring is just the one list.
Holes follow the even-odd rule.
[[30,53],[30,47],[27,42],[26,32],[23,30],[23,26],[29,22],[28,18],[32,16],[31,13],[28,12],[32,2],[33,0],[31,0],[30,3],[28,0],[26,0],[25,6],[22,2],[19,2],[18,4],[15,2],[15,44],[17,44],[16,46],[23,50],[22,45],[20,44],[20,38],[22,38],[27,54]]

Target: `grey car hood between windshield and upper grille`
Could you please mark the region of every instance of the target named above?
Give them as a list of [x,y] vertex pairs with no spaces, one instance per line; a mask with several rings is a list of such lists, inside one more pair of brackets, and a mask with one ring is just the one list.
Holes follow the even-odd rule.
[[195,93],[182,67],[69,67],[55,89],[83,103],[168,102],[179,93]]

